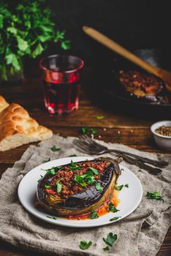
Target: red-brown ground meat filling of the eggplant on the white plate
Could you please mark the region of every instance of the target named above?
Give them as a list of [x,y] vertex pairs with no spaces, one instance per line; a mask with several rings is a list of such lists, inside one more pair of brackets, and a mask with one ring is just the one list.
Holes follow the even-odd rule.
[[[89,167],[93,167],[94,169],[99,171],[99,176],[102,174],[105,163],[104,162],[98,162],[98,163],[78,163],[78,167],[80,167],[80,170],[69,170],[69,167],[71,166],[64,166],[61,167],[60,170],[56,173],[55,176],[53,176],[52,181],[50,182],[50,189],[45,189],[45,192],[50,195],[55,195],[60,199],[67,199],[71,197],[72,195],[75,195],[77,192],[82,191],[85,189],[85,187],[81,186],[75,181],[75,177],[77,175],[83,176]],[[94,179],[97,181],[99,179],[99,176],[94,175]],[[56,191],[56,182],[60,182],[62,185],[61,192]],[[91,185],[88,185],[88,187]],[[87,187],[86,187],[87,188]]]

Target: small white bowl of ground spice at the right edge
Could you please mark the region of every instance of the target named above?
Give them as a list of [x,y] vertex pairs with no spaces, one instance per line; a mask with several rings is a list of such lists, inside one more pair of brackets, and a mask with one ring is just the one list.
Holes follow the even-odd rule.
[[158,121],[151,125],[151,132],[156,144],[167,151],[171,151],[171,120]]

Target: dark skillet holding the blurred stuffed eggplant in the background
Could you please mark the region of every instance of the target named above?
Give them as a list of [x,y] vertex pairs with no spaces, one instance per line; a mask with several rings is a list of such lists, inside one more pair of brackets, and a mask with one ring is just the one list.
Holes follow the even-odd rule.
[[[134,53],[137,56],[140,56],[141,59],[153,64],[153,66],[161,67],[167,70],[171,70],[171,54],[165,52],[165,50],[156,50],[156,49],[140,49],[135,50]],[[167,104],[152,104],[151,102],[142,102],[139,99],[131,99],[130,97],[126,97],[126,95],[121,94],[118,90],[119,81],[118,81],[118,72],[120,70],[138,70],[140,72],[144,72],[139,67],[134,64],[126,61],[120,56],[116,56],[113,61],[113,68],[110,74],[110,82],[105,86],[105,93],[110,94],[110,97],[115,99],[119,99],[120,102],[124,102],[129,106],[134,106],[137,108],[145,108],[150,110],[171,110],[171,94],[167,94],[169,102]],[[171,113],[170,113],[171,116]]]

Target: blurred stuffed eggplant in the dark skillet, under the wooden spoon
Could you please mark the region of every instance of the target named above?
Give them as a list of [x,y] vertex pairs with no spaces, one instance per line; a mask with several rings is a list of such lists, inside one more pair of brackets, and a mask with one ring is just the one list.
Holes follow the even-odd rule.
[[120,71],[118,80],[126,96],[142,102],[164,103],[165,84],[161,78],[138,71]]

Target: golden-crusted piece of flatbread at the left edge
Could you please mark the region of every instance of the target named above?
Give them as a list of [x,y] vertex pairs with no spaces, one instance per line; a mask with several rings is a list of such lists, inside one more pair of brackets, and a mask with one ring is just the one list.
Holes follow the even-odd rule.
[[16,103],[9,105],[0,96],[0,151],[47,140],[52,135],[50,129],[39,125],[23,107]]

